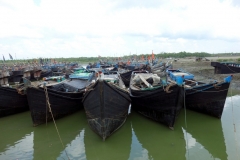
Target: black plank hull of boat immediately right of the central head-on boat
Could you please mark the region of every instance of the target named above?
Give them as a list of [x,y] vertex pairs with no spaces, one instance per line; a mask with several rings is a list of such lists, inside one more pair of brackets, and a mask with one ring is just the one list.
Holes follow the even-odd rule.
[[183,87],[174,85],[167,93],[162,87],[154,90],[131,90],[132,107],[143,116],[160,122],[170,128],[183,105]]

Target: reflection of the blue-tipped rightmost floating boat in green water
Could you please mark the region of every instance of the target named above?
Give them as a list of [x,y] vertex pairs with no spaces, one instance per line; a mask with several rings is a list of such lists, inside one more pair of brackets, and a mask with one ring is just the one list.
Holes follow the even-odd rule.
[[187,110],[186,159],[228,159],[221,120]]

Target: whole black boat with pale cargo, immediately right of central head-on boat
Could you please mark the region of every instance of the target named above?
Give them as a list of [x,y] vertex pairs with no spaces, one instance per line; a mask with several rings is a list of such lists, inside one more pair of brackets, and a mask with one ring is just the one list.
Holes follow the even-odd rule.
[[183,104],[184,92],[180,85],[164,84],[152,73],[133,72],[129,87],[133,109],[173,129]]

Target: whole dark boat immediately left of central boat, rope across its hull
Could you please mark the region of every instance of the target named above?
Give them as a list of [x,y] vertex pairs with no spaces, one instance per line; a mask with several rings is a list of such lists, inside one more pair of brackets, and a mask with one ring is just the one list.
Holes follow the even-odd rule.
[[[83,108],[83,93],[89,82],[76,80],[72,83],[74,84],[66,82],[47,87],[54,119],[62,118]],[[28,86],[27,98],[34,126],[53,120],[46,100],[46,91],[43,88]]]

